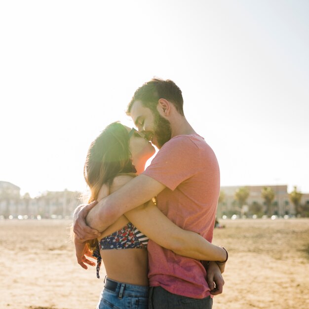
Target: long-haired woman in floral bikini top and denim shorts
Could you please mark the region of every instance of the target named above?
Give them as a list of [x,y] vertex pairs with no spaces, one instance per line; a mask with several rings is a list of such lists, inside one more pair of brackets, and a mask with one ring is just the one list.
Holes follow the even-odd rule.
[[[115,192],[141,173],[153,154],[152,144],[135,129],[117,122],[108,125],[90,145],[84,165],[84,178],[91,192],[89,202]],[[224,248],[182,230],[159,211],[155,200],[149,201],[120,217],[100,238],[88,242],[98,259],[97,276],[101,259],[107,273],[98,309],[148,308],[148,237],[193,259],[225,263],[228,257]]]

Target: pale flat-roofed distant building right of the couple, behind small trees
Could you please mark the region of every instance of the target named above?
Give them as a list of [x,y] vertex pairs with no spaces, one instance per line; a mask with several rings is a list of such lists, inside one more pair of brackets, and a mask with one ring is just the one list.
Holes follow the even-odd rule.
[[[245,205],[240,207],[235,199],[235,193],[242,187],[248,188],[249,196]],[[268,209],[265,204],[265,200],[262,197],[262,190],[265,187],[270,187],[274,193],[274,199],[272,202],[273,215],[284,216],[295,214],[294,205],[290,201],[289,193],[287,192],[287,185],[265,185],[221,187],[220,191],[224,193],[224,198],[218,203],[217,216],[221,218],[223,215],[231,216],[232,214],[254,214],[258,210],[260,210],[261,213],[267,214]],[[309,205],[309,193],[303,193],[301,203]]]

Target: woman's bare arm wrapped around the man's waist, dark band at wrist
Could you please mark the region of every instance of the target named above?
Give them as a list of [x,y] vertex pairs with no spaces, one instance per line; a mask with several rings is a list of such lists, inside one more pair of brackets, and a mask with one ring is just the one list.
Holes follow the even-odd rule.
[[211,244],[201,235],[186,231],[170,221],[152,201],[125,213],[141,232],[161,247],[176,254],[204,261],[225,261],[225,249]]

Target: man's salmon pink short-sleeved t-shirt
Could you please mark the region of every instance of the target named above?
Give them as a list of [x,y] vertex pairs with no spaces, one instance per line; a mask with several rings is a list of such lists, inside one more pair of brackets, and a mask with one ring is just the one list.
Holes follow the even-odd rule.
[[[143,174],[166,186],[156,196],[157,207],[171,221],[212,241],[220,171],[213,150],[201,136],[173,137]],[[151,240],[148,252],[150,286],[198,299],[210,295],[206,270],[200,261],[179,256]]]

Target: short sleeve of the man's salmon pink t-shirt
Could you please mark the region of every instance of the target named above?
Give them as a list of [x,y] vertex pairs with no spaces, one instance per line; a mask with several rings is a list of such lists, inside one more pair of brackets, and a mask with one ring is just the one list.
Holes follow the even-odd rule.
[[143,172],[174,191],[197,172],[199,149],[189,136],[182,135],[165,143]]

